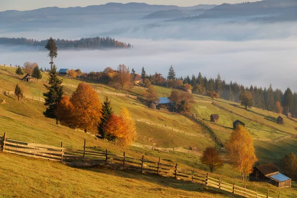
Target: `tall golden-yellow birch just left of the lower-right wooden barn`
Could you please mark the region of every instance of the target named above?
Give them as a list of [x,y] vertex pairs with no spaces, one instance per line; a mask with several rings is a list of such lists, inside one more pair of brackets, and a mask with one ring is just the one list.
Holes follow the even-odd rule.
[[233,168],[242,174],[244,181],[257,161],[252,136],[245,127],[238,125],[225,144],[225,148],[228,151]]

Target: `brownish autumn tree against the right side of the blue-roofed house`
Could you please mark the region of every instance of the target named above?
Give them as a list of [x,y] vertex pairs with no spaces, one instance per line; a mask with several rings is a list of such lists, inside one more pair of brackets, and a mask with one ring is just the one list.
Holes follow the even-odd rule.
[[193,95],[189,92],[172,90],[168,99],[170,99],[172,102],[175,102],[174,107],[176,108],[177,112],[186,112],[192,108]]

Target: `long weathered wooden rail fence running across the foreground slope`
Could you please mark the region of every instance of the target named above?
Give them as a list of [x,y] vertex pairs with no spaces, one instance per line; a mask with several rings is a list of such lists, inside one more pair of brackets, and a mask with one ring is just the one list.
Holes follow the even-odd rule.
[[[255,198],[272,198],[269,197],[269,189],[267,195],[258,194],[256,189],[249,190],[244,187],[227,182],[223,182],[222,179],[214,179],[209,177],[208,173],[202,175],[195,170],[195,167],[190,169],[181,169],[178,164],[162,163],[163,160],[158,158],[158,161],[150,161],[142,158],[135,158],[125,155],[114,154],[105,151],[87,150],[86,140],[84,141],[84,147],[82,150],[63,148],[63,143],[59,147],[27,143],[18,140],[8,139],[6,133],[4,136],[0,136],[0,150],[3,152],[22,155],[26,157],[41,158],[50,161],[62,162],[65,164],[81,164],[81,165],[105,165],[110,167],[125,168],[127,170],[138,170],[147,173],[156,173],[158,175],[173,177],[175,179],[182,179],[185,181],[192,181],[202,185],[218,188],[236,195],[244,197]],[[276,197],[275,197],[276,198]],[[280,195],[278,196],[280,198]]]

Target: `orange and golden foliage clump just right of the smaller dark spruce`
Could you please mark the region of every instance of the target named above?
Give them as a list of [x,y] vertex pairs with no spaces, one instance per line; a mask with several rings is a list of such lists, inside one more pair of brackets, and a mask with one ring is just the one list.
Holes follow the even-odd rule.
[[121,109],[121,114],[112,114],[103,128],[109,141],[118,140],[120,146],[131,145],[136,140],[135,122],[131,119],[127,108]]

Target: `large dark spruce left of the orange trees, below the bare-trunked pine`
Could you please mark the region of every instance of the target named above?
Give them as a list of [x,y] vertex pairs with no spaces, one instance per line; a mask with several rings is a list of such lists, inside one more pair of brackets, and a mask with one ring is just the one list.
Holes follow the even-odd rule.
[[62,82],[63,80],[58,79],[56,66],[53,65],[52,70],[49,71],[49,86],[45,85],[48,92],[43,93],[46,100],[45,106],[47,106],[44,115],[49,118],[55,118],[56,124],[58,123],[58,119],[55,115],[55,110],[64,93],[63,86],[61,86]]

